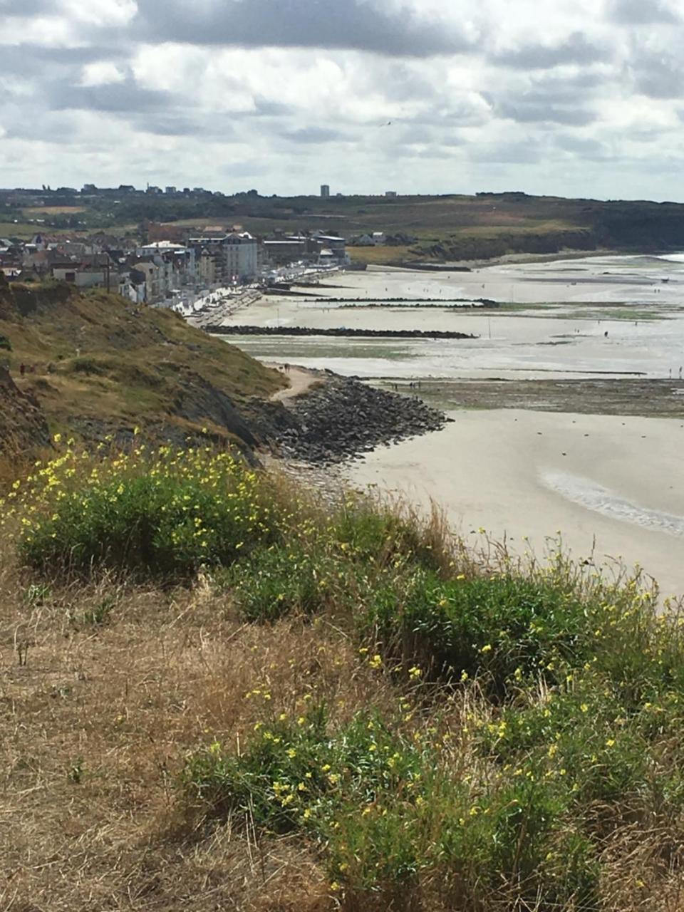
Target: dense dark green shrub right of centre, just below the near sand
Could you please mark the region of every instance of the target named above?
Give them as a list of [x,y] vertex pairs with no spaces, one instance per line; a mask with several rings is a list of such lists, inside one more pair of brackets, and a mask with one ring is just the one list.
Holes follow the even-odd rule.
[[[368,592],[362,626],[441,678],[565,677],[588,654],[595,609],[557,580],[472,575],[444,582],[419,569]],[[561,677],[561,679],[562,679]]]

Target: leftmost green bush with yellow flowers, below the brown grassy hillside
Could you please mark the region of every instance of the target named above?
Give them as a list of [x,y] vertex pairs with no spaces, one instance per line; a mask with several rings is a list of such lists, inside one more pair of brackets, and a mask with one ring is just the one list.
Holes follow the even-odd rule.
[[259,477],[228,453],[139,450],[85,478],[73,453],[57,462],[38,472],[39,510],[23,520],[19,554],[28,565],[172,577],[230,565],[275,537]]

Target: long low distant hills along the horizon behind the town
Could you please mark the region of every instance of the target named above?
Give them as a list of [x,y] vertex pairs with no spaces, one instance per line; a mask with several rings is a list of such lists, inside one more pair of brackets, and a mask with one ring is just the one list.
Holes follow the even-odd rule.
[[[43,212],[46,230],[67,227],[66,216]],[[505,254],[554,254],[563,250],[610,249],[654,251],[684,249],[684,205],[675,202],[601,201],[530,196],[523,192],[475,196],[316,196],[267,197],[164,194],[59,198],[78,205],[78,220],[88,231],[144,234],[148,222],[176,229],[206,224],[240,224],[256,234],[276,230],[298,232],[323,228],[351,240],[362,234],[385,233],[390,244],[354,247],[358,262],[409,263],[486,260]],[[54,209],[54,207],[52,207]],[[19,220],[34,217],[35,207],[16,210]],[[71,216],[70,216],[71,217]],[[60,221],[61,220],[61,221]],[[6,231],[35,232],[36,225],[7,225]]]

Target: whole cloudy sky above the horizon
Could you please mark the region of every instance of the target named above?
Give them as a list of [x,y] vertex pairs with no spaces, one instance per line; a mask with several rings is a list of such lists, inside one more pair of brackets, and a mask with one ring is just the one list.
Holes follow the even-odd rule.
[[684,200],[682,0],[0,0],[0,45],[5,187]]

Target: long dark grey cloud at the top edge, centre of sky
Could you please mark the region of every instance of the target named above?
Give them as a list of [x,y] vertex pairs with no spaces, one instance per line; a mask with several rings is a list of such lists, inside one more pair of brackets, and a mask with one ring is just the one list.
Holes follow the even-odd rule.
[[399,57],[472,48],[446,22],[394,12],[378,0],[139,0],[137,36],[156,41],[238,47],[326,47]]

